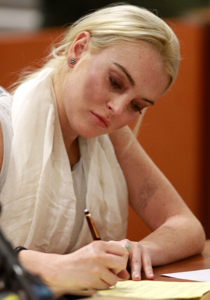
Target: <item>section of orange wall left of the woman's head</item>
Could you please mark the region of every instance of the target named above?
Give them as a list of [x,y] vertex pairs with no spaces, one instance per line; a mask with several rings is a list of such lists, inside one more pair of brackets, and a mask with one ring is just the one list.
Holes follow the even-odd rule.
[[18,79],[22,68],[39,67],[49,47],[61,34],[61,29],[33,32],[13,32],[0,35],[0,85],[8,88]]

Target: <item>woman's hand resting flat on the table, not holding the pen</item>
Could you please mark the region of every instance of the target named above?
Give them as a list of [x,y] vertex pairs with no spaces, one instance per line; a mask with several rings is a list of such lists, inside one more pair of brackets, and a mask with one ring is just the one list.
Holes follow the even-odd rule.
[[139,242],[129,241],[128,239],[124,239],[120,243],[130,246],[128,264],[131,271],[131,279],[141,280],[141,269],[144,270],[147,279],[153,279],[152,262],[148,250]]

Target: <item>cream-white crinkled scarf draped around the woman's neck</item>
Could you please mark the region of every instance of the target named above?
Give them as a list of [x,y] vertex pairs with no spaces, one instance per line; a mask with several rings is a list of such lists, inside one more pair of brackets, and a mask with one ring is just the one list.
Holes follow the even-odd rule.
[[[76,197],[52,88],[53,72],[43,70],[14,94],[14,136],[0,195],[0,222],[14,247],[64,253],[76,222]],[[79,146],[85,162],[86,207],[102,239],[121,240],[126,235],[128,192],[113,145],[105,135],[80,137]],[[90,241],[85,221],[71,252]]]

